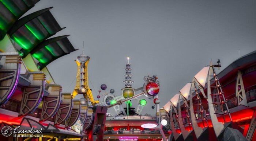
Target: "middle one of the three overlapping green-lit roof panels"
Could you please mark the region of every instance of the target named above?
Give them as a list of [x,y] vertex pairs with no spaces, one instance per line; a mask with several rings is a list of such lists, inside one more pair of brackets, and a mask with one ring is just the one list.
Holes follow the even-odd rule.
[[42,9],[19,19],[8,31],[11,38],[22,48],[20,56],[23,58],[39,43],[63,29],[50,13],[51,8]]

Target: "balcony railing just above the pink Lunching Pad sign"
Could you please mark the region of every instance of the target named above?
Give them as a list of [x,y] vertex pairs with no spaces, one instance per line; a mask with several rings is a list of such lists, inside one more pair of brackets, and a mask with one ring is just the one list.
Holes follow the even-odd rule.
[[161,134],[159,130],[104,131],[104,134]]

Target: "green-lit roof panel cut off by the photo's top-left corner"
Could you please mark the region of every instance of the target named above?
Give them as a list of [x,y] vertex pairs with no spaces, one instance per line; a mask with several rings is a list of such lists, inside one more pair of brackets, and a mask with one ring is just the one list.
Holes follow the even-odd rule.
[[0,0],[0,40],[12,25],[39,0]]

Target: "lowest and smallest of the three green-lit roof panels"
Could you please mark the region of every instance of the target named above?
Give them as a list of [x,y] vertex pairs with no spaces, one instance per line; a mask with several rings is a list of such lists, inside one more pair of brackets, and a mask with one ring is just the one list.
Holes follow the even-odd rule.
[[45,40],[30,52],[39,61],[37,65],[40,70],[52,61],[76,50],[69,42],[67,36],[69,35]]

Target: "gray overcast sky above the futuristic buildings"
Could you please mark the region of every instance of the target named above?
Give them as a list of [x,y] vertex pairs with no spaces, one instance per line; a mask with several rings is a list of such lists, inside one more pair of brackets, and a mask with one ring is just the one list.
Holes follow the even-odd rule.
[[[222,70],[239,57],[238,49],[241,56],[256,50],[255,0],[41,0],[27,13],[52,6],[67,27],[56,36],[70,34],[80,49],[48,65],[63,92],[75,87],[74,60],[83,41],[95,91],[105,83],[121,94],[129,55],[134,88],[145,75],[158,75],[161,106],[211,59],[220,59]],[[154,114],[152,105],[148,101],[143,113]]]

